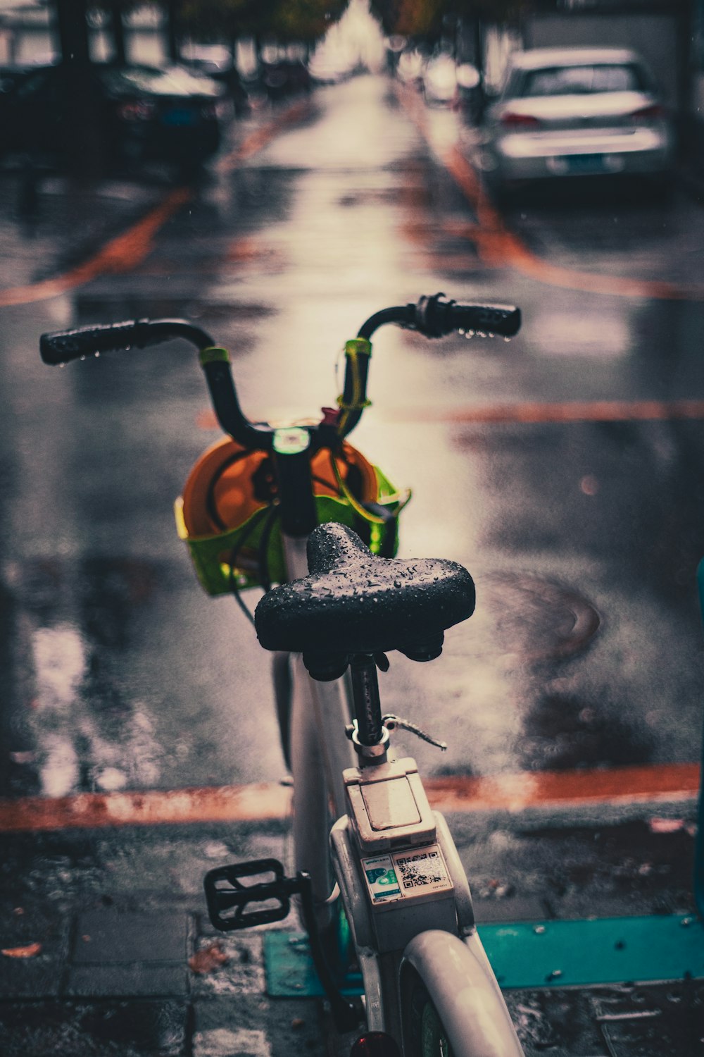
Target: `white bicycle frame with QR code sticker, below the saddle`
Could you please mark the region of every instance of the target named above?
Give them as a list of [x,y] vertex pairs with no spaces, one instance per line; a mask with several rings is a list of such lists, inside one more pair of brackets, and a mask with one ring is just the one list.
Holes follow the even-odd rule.
[[[284,553],[291,578],[305,576],[308,571],[305,539],[284,537]],[[396,767],[398,776],[386,777],[384,773],[382,784],[403,783],[410,776],[414,799],[421,811],[421,832],[415,836],[425,841],[437,840],[452,898],[443,893],[439,901],[414,906],[410,920],[402,911],[397,914],[399,920],[380,932],[366,892],[360,827],[350,819],[356,810],[351,802],[353,787],[358,792],[360,786],[376,783],[381,777],[380,769],[370,768],[373,774],[369,774],[355,766],[358,761],[344,737],[351,712],[345,680],[320,683],[310,679],[300,656],[293,659],[293,664],[290,762],[296,866],[311,875],[318,923],[324,928],[331,912],[332,878],[326,834],[332,803],[337,816],[329,834],[332,869],[362,975],[367,1030],[385,1033],[398,1042],[401,1053],[408,1052],[413,1040],[407,1037],[407,1027],[404,1028],[407,1022],[404,1005],[412,968],[426,987],[457,1057],[519,1057],[522,1049],[476,931],[467,874],[444,817],[431,812],[413,760],[385,764],[386,771]],[[389,848],[395,840],[398,847],[403,839],[407,846],[407,820],[402,811],[399,814],[393,796],[378,824],[389,834],[386,841]],[[397,835],[401,832],[403,837]],[[410,850],[417,848],[414,845]],[[388,905],[386,914],[387,908]]]

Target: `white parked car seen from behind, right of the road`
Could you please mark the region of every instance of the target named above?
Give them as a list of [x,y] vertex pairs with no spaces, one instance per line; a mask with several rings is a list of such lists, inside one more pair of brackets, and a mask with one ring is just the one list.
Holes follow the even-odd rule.
[[617,173],[665,185],[672,171],[667,110],[643,60],[626,49],[514,52],[483,132],[481,165],[498,191]]

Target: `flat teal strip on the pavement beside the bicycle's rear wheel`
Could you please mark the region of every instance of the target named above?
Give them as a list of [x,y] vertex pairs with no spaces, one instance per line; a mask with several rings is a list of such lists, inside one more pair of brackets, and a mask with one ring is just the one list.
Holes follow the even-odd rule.
[[[479,935],[503,988],[704,977],[704,926],[692,916],[480,925]],[[269,995],[322,995],[304,933],[266,932],[264,960]],[[360,985],[350,976],[344,989]]]

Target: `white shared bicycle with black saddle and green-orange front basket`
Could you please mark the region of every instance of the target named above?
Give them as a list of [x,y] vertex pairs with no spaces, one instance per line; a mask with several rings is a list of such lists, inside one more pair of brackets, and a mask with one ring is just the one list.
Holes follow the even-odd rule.
[[[185,338],[198,349],[229,438],[194,467],[177,522],[211,594],[234,592],[242,604],[243,587],[265,589],[253,623],[273,652],[296,875],[285,876],[275,859],[209,871],[213,925],[230,931],[282,921],[296,898],[336,1026],[361,1033],[351,1057],[518,1057],[444,818],[431,810],[415,761],[388,757],[398,726],[433,739],[382,715],[377,669],[386,670],[393,649],[416,661],[437,657],[444,631],[472,614],[475,596],[456,562],[393,557],[407,495],[345,440],[367,406],[370,338],[384,323],[433,338],[454,331],[511,337],[520,313],[442,294],[377,312],[346,342],[338,407],[323,409],[315,424],[284,427],[246,419],[229,354],[186,320],[55,332],[42,336],[40,350],[45,363],[62,365]],[[228,481],[240,497],[234,526],[224,508]],[[252,489],[244,507],[243,482]],[[351,962],[361,1001],[342,990]]]

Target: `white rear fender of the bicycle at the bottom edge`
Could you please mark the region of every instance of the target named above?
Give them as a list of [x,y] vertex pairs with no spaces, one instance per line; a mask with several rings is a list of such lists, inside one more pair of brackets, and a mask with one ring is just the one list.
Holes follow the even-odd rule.
[[522,1057],[476,933],[421,932],[400,969],[403,1057]]

